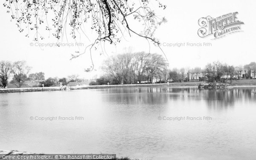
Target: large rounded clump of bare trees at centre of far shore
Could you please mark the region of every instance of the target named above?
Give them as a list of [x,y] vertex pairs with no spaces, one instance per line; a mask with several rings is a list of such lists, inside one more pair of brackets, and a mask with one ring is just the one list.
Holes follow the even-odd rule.
[[153,79],[166,81],[168,63],[163,55],[145,52],[112,55],[103,62],[105,75],[91,84],[152,83]]

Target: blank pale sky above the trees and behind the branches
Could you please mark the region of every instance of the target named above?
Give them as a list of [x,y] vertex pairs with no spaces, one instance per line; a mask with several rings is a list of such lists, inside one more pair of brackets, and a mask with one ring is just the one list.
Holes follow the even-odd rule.
[[[165,16],[168,20],[158,28],[155,37],[163,43],[211,43],[212,47],[164,47],[170,68],[173,67],[201,67],[208,62],[221,61],[227,64],[239,66],[256,61],[256,15],[255,0],[160,0],[167,5],[165,10],[157,10],[159,17]],[[158,6],[156,6],[157,8]],[[227,35],[224,38],[211,40],[212,38],[200,38],[197,34],[200,26],[198,19],[208,15],[218,17],[230,12],[239,12],[238,20],[244,22],[241,26],[244,32]],[[90,79],[94,75],[99,76],[96,71],[85,73],[84,68],[90,67],[90,55],[70,61],[70,54],[75,51],[83,52],[85,46],[90,44],[87,38],[80,41],[84,47],[36,47],[30,46],[32,36],[26,38],[26,32],[20,33],[14,22],[11,22],[11,15],[6,13],[6,8],[0,5],[1,31],[1,56],[0,60],[18,61],[26,60],[32,67],[31,73],[44,72],[48,77],[67,77],[71,74],[79,74],[79,78]],[[136,28],[133,23],[131,28]],[[88,31],[88,35],[93,32]],[[90,38],[90,36],[88,36]],[[93,38],[91,39],[91,41]],[[40,43],[55,43],[55,38],[45,36]],[[66,43],[66,42],[63,42]],[[75,43],[71,38],[69,43]],[[123,53],[131,48],[134,52],[148,52],[148,41],[136,35],[121,40],[116,46],[105,45],[107,54],[100,55],[101,49],[93,50],[93,62],[96,70],[101,66],[102,61],[110,55]],[[160,49],[150,46],[151,52],[162,54]]]

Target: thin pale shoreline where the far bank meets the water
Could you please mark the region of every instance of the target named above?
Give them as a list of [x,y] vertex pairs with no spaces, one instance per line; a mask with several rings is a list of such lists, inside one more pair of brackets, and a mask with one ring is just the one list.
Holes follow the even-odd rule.
[[[198,87],[202,82],[174,82],[160,84],[117,84],[117,85],[88,85],[68,87],[67,90],[85,90],[85,89],[104,89],[104,88],[128,88],[128,87],[178,87],[189,88]],[[256,84],[231,84],[232,87],[256,87]],[[60,87],[30,87],[30,88],[5,88],[0,89],[0,93],[16,93],[16,92],[42,92],[42,91],[57,91]]]

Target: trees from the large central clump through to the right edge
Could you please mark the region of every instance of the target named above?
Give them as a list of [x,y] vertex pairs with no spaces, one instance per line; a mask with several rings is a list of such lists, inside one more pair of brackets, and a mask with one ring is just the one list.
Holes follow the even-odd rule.
[[[166,83],[190,81],[189,75],[195,76],[195,80],[208,82],[232,83],[234,79],[249,79],[251,73],[256,72],[256,63],[251,62],[244,66],[234,67],[226,63],[215,61],[208,63],[203,69],[195,67],[183,67],[180,69],[168,68],[168,62],[159,54],[145,52],[124,53],[110,56],[102,66],[105,75],[91,85],[102,84],[138,84],[138,83]],[[246,70],[244,77],[241,72]]]

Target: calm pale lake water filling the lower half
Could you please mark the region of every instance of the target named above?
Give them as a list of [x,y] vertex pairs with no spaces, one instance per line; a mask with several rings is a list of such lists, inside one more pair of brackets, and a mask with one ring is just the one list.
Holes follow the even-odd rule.
[[109,153],[143,160],[255,160],[252,90],[142,87],[1,93],[0,149]]

